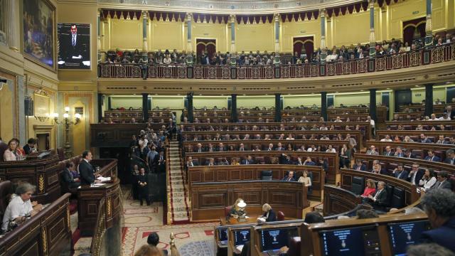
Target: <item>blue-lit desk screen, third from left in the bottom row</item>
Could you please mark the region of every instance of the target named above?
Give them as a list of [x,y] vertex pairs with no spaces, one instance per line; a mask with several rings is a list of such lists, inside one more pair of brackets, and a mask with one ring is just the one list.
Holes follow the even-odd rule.
[[291,228],[264,228],[259,231],[259,242],[262,252],[269,250],[279,250],[288,245],[290,237],[298,236],[297,227]]

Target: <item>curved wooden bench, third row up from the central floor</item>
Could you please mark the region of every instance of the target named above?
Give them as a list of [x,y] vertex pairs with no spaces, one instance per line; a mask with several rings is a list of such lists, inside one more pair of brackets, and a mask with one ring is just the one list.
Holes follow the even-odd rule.
[[[324,159],[328,164],[327,171],[327,182],[335,183],[336,174],[338,174],[338,154],[337,153],[321,153],[321,152],[304,152],[304,151],[251,151],[248,152],[253,159],[256,161],[259,159],[259,163],[264,161],[264,164],[271,164],[272,161],[278,160],[282,154],[287,154],[291,156],[291,159],[296,160],[297,157],[301,157],[305,161],[306,156],[310,156],[311,159],[318,165],[319,159]],[[218,159],[228,159],[231,162],[232,158],[245,159],[247,154],[242,151],[226,151],[226,152],[203,152],[203,153],[187,153],[186,156],[191,156],[193,161],[198,161],[199,163],[205,163],[210,158]],[[278,163],[278,161],[277,161]]]

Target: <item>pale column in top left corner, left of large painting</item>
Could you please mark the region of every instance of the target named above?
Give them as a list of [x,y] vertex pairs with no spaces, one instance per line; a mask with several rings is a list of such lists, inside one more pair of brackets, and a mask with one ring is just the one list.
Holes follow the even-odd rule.
[[5,23],[5,33],[6,40],[8,41],[9,48],[11,50],[19,50],[19,19],[16,9],[18,9],[17,0],[4,0],[3,1],[4,9],[4,23]]

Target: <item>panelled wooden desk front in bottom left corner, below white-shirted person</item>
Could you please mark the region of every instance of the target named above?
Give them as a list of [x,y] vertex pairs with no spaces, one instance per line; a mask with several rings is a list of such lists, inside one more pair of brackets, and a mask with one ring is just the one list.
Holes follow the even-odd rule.
[[[0,239],[0,255],[69,253],[71,247],[70,193],[61,196],[26,223]],[[65,255],[65,254],[63,254]]]

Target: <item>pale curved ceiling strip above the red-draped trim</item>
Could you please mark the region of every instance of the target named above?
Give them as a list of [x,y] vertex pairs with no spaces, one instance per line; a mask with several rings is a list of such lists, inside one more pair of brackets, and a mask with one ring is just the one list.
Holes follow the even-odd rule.
[[98,0],[102,7],[215,14],[271,14],[316,10],[365,0]]

